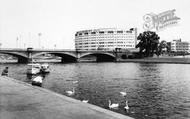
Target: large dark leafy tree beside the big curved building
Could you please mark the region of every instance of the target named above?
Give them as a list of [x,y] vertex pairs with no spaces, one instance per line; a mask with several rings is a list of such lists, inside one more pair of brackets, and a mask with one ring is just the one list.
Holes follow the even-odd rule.
[[160,37],[152,31],[144,31],[140,33],[137,37],[137,40],[140,40],[136,45],[136,48],[139,48],[140,55],[145,55],[145,57],[153,56],[157,53],[158,55],[158,44]]

